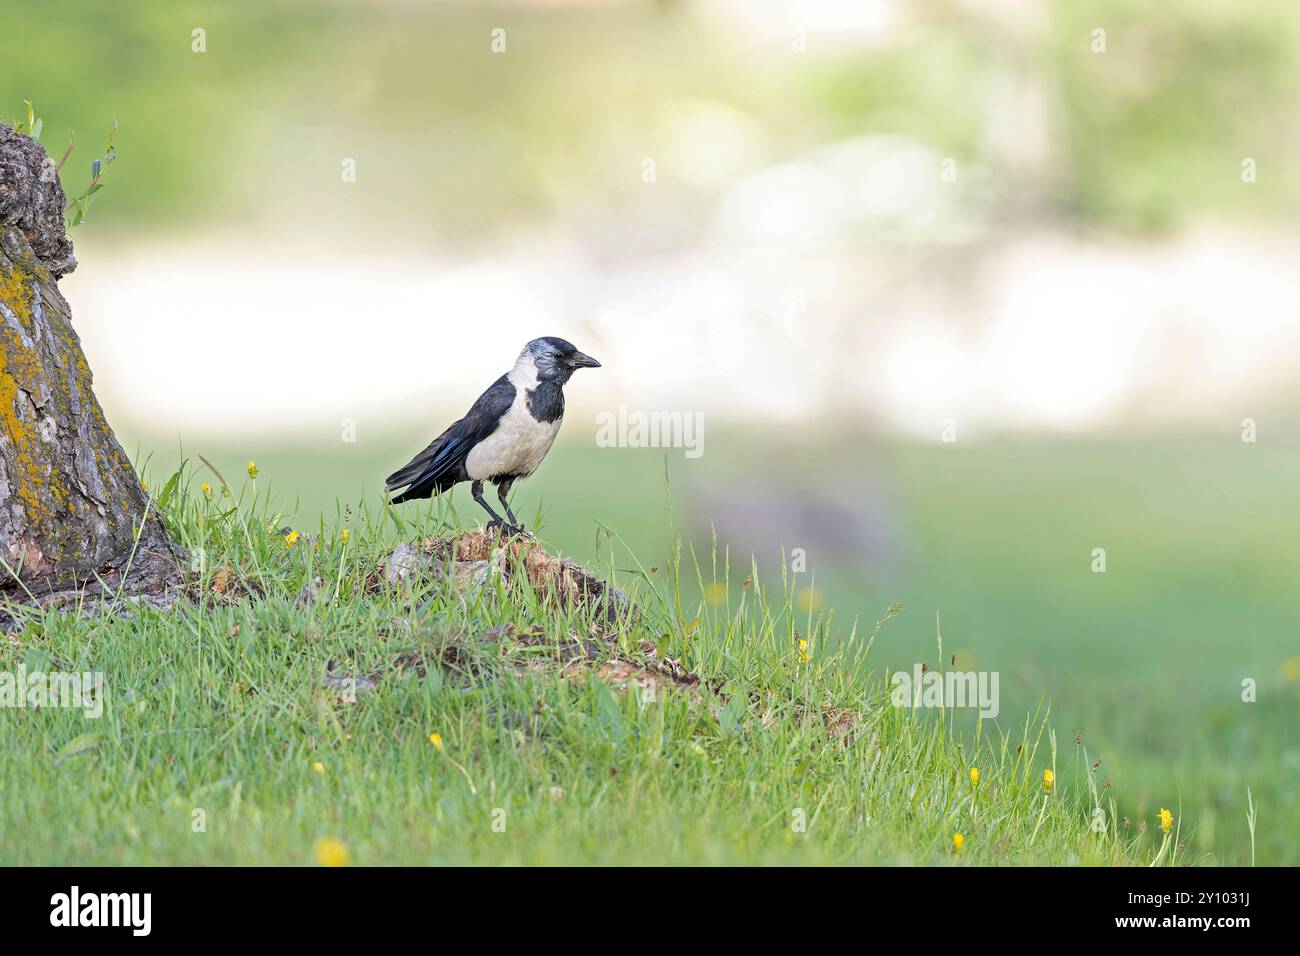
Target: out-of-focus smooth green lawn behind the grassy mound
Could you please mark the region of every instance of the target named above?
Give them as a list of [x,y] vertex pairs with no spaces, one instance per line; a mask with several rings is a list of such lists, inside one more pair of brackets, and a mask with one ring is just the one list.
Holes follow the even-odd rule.
[[[664,503],[663,451],[598,449],[566,427],[541,473],[516,490],[516,511],[540,512],[542,536],[593,567],[611,555],[599,527],[618,531],[646,564],[663,564],[672,528]],[[248,436],[240,446],[135,436],[129,449],[155,467],[179,454],[208,455],[238,473],[248,455],[263,485],[299,498],[299,527],[334,520],[342,497],[378,501],[377,480],[425,437],[364,429],[341,444],[333,423],[298,444]],[[567,440],[566,440],[567,438]],[[792,501],[840,501],[850,518],[875,514],[885,531],[875,551],[835,550],[800,527],[741,540],[722,523],[719,546],[734,562],[753,549],[779,578],[784,550],[802,545],[815,591],[844,630],[874,622],[901,601],[907,611],[884,628],[863,665],[884,679],[915,662],[936,663],[935,613],[963,669],[1001,674],[996,732],[1014,734],[1044,700],[1062,747],[1062,784],[1086,787],[1091,762],[1121,817],[1154,825],[1161,806],[1179,816],[1196,862],[1249,864],[1247,791],[1258,805],[1256,860],[1300,862],[1300,544],[1286,533],[1290,490],[1300,483],[1300,429],[1275,423],[1266,441],[1222,436],[1106,440],[991,440],[956,446],[751,436],[718,429],[710,453],[684,462],[670,453],[676,527],[708,554],[719,494],[766,494],[775,511]],[[802,464],[820,462],[815,473]],[[462,527],[478,509],[462,490],[451,503]],[[403,514],[412,510],[406,506]],[[428,507],[424,511],[428,514]],[[1108,572],[1091,572],[1091,550],[1108,549]],[[733,576],[731,594],[738,593]],[[701,589],[686,593],[698,601]],[[1240,682],[1258,682],[1242,701]],[[965,717],[957,727],[966,735]],[[1082,732],[1091,758],[1074,750]],[[1075,766],[1089,773],[1075,778]]]

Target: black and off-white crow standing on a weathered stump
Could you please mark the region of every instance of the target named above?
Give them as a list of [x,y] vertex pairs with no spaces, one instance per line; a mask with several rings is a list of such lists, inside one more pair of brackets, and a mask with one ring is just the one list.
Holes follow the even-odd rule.
[[[385,489],[404,488],[394,505],[432,498],[462,481],[472,481],[471,494],[491,515],[489,528],[519,533],[523,525],[510,510],[510,488],[534,471],[551,450],[564,418],[564,382],[578,368],[599,368],[572,343],[555,336],[534,338],[524,346],[515,367],[494,381],[459,421],[454,421],[429,447],[389,475]],[[484,481],[497,485],[497,498],[510,523],[484,501]]]

